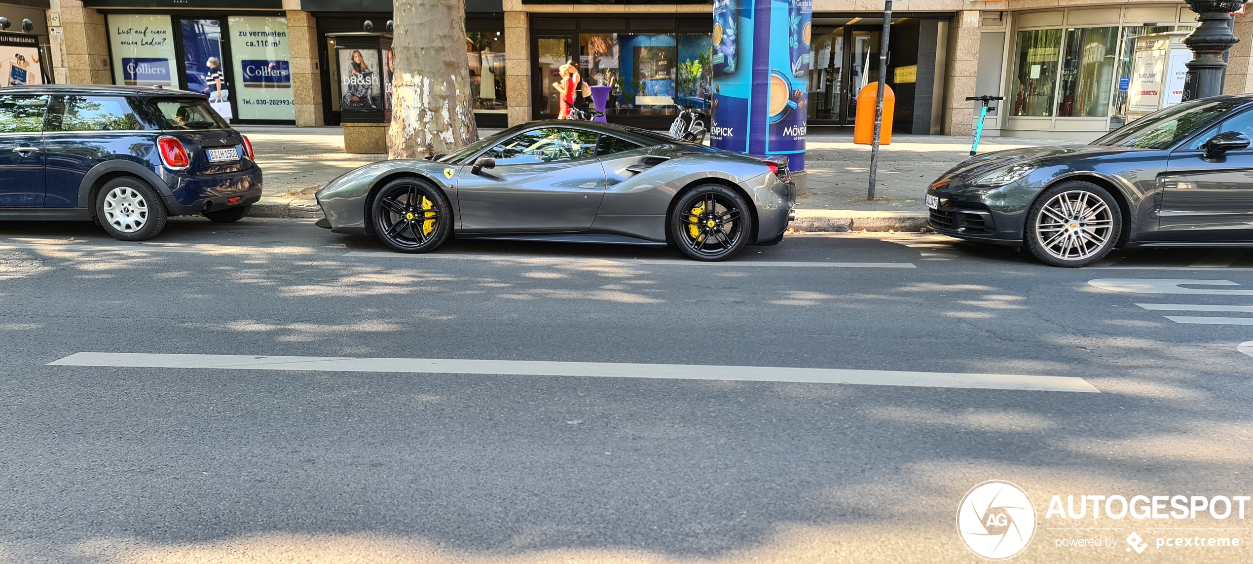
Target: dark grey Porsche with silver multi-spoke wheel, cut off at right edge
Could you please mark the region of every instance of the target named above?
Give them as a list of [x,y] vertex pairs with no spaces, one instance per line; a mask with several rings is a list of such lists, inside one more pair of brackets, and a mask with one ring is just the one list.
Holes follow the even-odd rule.
[[1090,264],[1115,247],[1253,247],[1253,94],[1202,98],[1086,145],[971,158],[926,193],[931,227]]

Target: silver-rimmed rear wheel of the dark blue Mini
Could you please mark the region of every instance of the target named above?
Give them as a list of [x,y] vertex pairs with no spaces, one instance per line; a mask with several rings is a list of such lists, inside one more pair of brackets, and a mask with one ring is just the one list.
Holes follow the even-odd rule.
[[96,193],[95,218],[119,239],[144,241],[165,227],[165,208],[147,182],[118,177]]

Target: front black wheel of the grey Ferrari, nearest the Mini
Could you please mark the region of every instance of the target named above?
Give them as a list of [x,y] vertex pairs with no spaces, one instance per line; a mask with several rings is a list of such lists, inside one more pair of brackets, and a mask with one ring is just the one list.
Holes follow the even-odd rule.
[[388,182],[375,196],[370,217],[383,243],[402,253],[425,253],[452,232],[452,207],[444,192],[417,178]]

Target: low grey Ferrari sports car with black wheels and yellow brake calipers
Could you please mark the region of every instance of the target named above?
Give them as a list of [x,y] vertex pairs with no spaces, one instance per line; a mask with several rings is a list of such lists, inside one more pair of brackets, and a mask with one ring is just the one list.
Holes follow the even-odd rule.
[[429,252],[455,238],[674,244],[698,261],[783,238],[796,203],[784,158],[595,122],[515,125],[432,159],[383,160],[317,194],[337,233]]

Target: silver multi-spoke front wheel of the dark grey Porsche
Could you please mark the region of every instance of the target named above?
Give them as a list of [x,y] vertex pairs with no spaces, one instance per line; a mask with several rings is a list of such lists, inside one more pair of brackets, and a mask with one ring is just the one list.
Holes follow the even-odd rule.
[[1114,248],[1121,219],[1118,203],[1104,188],[1068,182],[1050,188],[1031,206],[1027,247],[1049,264],[1091,264]]

